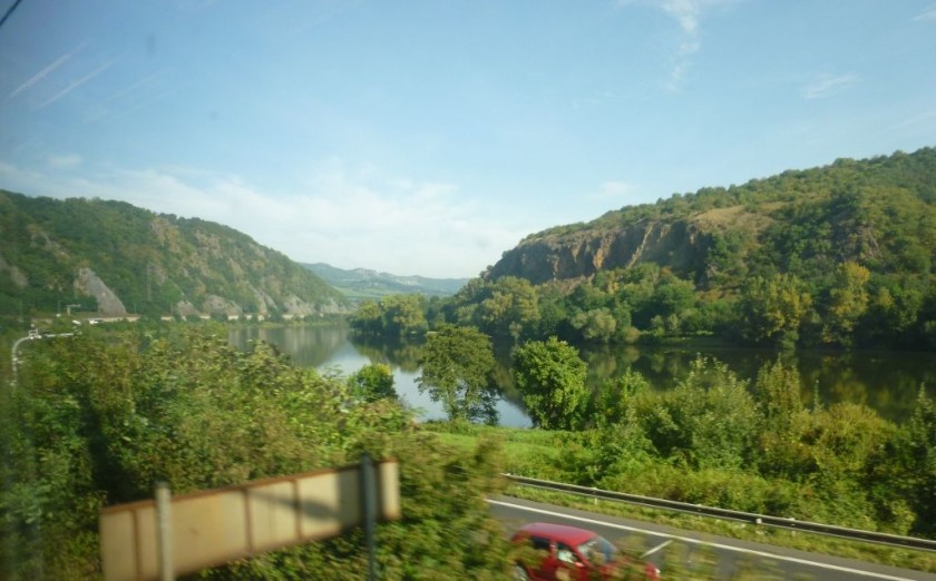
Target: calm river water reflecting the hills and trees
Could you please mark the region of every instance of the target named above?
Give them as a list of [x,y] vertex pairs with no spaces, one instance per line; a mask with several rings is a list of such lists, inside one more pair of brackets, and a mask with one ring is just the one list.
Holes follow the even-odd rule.
[[[321,373],[349,375],[369,363],[386,363],[393,370],[397,393],[411,407],[422,410],[421,417],[441,418],[441,406],[419,393],[419,347],[416,339],[362,337],[347,326],[301,325],[284,327],[241,326],[230,333],[232,344],[250,348],[252,341],[264,341],[289,355],[296,365],[315,367]],[[499,346],[497,384],[500,424],[528,426],[529,418],[513,387],[509,373],[509,345]],[[610,377],[633,370],[655,390],[670,390],[685,376],[699,356],[723,362],[740,378],[753,381],[766,363],[782,357],[796,365],[802,377],[803,395],[825,403],[862,403],[883,417],[903,422],[913,411],[920,385],[933,394],[936,386],[936,355],[907,352],[797,352],[780,354],[769,349],[714,348],[703,346],[581,346],[588,363],[589,381],[597,385]]]

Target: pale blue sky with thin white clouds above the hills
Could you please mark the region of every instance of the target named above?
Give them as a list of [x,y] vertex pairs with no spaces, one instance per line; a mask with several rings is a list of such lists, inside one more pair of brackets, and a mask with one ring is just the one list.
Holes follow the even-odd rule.
[[0,28],[0,188],[343,268],[471,277],[550,226],[925,146],[933,0],[22,0]]

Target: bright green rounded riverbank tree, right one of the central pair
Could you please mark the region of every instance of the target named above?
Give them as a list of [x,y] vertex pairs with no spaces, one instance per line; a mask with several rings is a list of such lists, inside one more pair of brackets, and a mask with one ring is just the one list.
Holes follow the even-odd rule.
[[534,425],[547,430],[585,425],[591,392],[585,385],[587,367],[575,347],[556,337],[530,341],[514,353],[511,371]]

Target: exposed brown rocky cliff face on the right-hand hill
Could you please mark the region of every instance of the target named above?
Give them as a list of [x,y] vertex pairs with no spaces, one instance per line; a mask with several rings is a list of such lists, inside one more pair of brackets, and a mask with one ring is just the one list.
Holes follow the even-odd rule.
[[534,284],[591,277],[644,262],[686,275],[703,264],[709,236],[688,220],[641,220],[613,230],[537,236],[508,250],[488,277],[518,276]]

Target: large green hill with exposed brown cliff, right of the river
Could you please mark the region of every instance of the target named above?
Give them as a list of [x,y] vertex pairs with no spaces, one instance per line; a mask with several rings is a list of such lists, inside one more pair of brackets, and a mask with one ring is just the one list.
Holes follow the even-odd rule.
[[934,272],[936,149],[839,159],[554,227],[506,252],[488,279],[544,283],[655,263],[731,288],[759,273],[817,280],[847,260],[879,274]]

